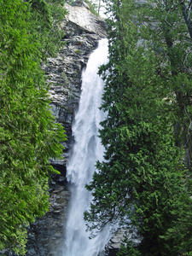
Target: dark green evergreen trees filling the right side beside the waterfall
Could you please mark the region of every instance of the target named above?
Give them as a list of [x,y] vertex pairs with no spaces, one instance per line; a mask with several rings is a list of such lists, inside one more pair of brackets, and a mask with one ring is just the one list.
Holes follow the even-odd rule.
[[105,154],[84,218],[93,236],[115,222],[129,230],[119,255],[192,255],[191,3],[107,6]]

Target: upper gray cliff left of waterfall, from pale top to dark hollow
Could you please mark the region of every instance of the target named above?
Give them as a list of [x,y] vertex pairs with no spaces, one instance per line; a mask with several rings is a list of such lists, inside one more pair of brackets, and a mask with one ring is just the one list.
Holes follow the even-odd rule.
[[[52,112],[56,121],[67,131],[68,140],[64,146],[68,149],[72,140],[73,114],[79,104],[82,69],[86,66],[90,52],[96,49],[98,40],[106,38],[106,23],[84,8],[84,5],[70,6],[66,3],[66,9],[67,17],[61,23],[66,46],[55,58],[49,58],[43,68],[51,83],[49,98]],[[53,160],[52,164],[63,166],[67,157],[66,152],[63,161]]]

